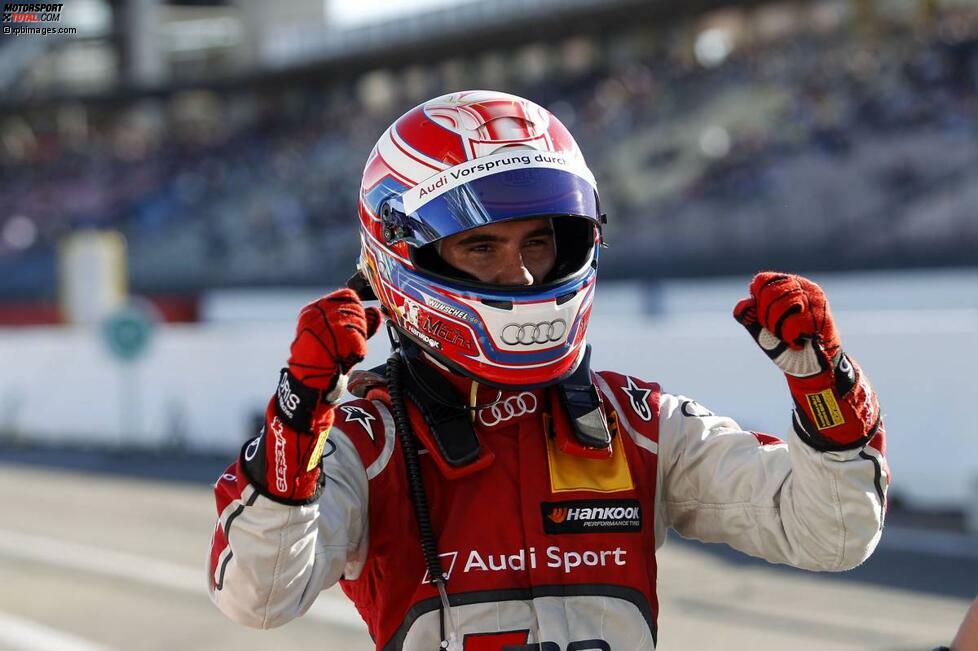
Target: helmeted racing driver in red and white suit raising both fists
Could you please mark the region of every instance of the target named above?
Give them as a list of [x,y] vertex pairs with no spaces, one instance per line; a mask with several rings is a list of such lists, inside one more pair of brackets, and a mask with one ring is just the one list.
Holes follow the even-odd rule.
[[[280,626],[339,582],[377,649],[641,651],[669,527],[809,570],[872,553],[883,423],[815,283],[760,273],[733,311],[787,380],[779,439],[591,369],[605,216],[540,106],[410,110],[359,217],[358,275],[302,309],[265,425],[215,485],[210,595],[234,621]],[[353,371],[384,320],[391,357]]]

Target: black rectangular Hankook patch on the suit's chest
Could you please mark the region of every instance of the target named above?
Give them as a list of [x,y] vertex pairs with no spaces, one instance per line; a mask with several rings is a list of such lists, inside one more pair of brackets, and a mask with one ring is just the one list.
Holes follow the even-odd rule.
[[642,530],[638,500],[571,500],[543,502],[547,533],[630,533]]

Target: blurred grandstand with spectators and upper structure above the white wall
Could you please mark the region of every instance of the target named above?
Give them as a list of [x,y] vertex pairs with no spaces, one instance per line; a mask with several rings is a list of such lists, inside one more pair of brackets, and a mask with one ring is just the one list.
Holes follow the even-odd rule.
[[[176,4],[174,23],[244,16],[249,33],[249,3]],[[479,86],[575,133],[610,218],[606,278],[978,262],[974,5],[490,5],[315,38],[285,24],[244,69],[211,45],[152,83],[9,81],[0,300],[52,299],[57,243],[89,228],[126,235],[137,292],[335,285],[379,133]],[[126,50],[118,28],[87,39]]]

